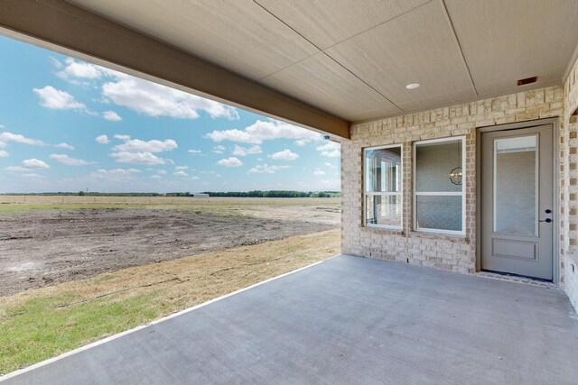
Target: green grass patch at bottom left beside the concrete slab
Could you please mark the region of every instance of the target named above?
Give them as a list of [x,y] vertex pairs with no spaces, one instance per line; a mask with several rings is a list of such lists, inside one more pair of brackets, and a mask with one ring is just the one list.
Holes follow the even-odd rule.
[[61,296],[33,298],[6,309],[0,327],[0,372],[17,369],[24,362],[41,362],[54,355],[111,335],[159,316],[162,309],[151,307],[160,293],[131,298],[101,298],[67,308],[57,304]]

